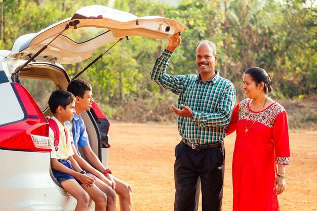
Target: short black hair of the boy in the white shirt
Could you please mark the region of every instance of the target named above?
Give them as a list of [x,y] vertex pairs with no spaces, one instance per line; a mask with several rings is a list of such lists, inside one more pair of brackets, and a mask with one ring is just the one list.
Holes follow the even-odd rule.
[[70,92],[65,90],[54,90],[49,99],[49,107],[52,113],[56,113],[58,106],[62,106],[64,109],[75,101],[75,97]]

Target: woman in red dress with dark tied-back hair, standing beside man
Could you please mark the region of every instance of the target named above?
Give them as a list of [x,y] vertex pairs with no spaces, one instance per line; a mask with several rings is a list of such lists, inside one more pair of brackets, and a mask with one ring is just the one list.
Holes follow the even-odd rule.
[[247,99],[233,110],[227,135],[236,130],[232,161],[233,211],[277,211],[290,163],[285,109],[267,97],[271,75],[251,67],[243,77]]

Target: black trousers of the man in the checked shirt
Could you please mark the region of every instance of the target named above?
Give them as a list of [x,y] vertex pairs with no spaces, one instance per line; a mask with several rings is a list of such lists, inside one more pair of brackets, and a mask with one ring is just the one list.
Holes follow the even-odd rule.
[[203,211],[221,211],[224,178],[224,145],[194,150],[182,141],[175,147],[175,211],[193,211],[197,178],[202,184]]

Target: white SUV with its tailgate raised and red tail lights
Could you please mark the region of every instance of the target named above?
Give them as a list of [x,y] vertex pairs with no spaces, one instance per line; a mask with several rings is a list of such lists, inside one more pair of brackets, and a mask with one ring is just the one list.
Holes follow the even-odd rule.
[[[52,115],[50,93],[66,90],[70,81],[61,64],[82,62],[94,50],[128,36],[164,39],[184,30],[168,18],[139,18],[94,5],[19,37],[12,51],[0,50],[0,210],[75,208],[76,200],[52,177],[45,118]],[[109,121],[96,103],[82,117],[92,149],[107,166]],[[94,210],[93,202],[88,210]]]

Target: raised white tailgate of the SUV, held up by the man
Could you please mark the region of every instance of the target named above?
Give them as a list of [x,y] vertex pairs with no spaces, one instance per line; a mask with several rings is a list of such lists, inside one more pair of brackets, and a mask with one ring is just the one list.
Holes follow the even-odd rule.
[[92,57],[93,51],[125,36],[164,39],[186,30],[181,23],[159,16],[137,17],[131,13],[100,5],[77,10],[74,15],[42,31],[19,37],[10,57],[28,59],[48,45],[66,26],[36,61],[60,64],[77,63]]

